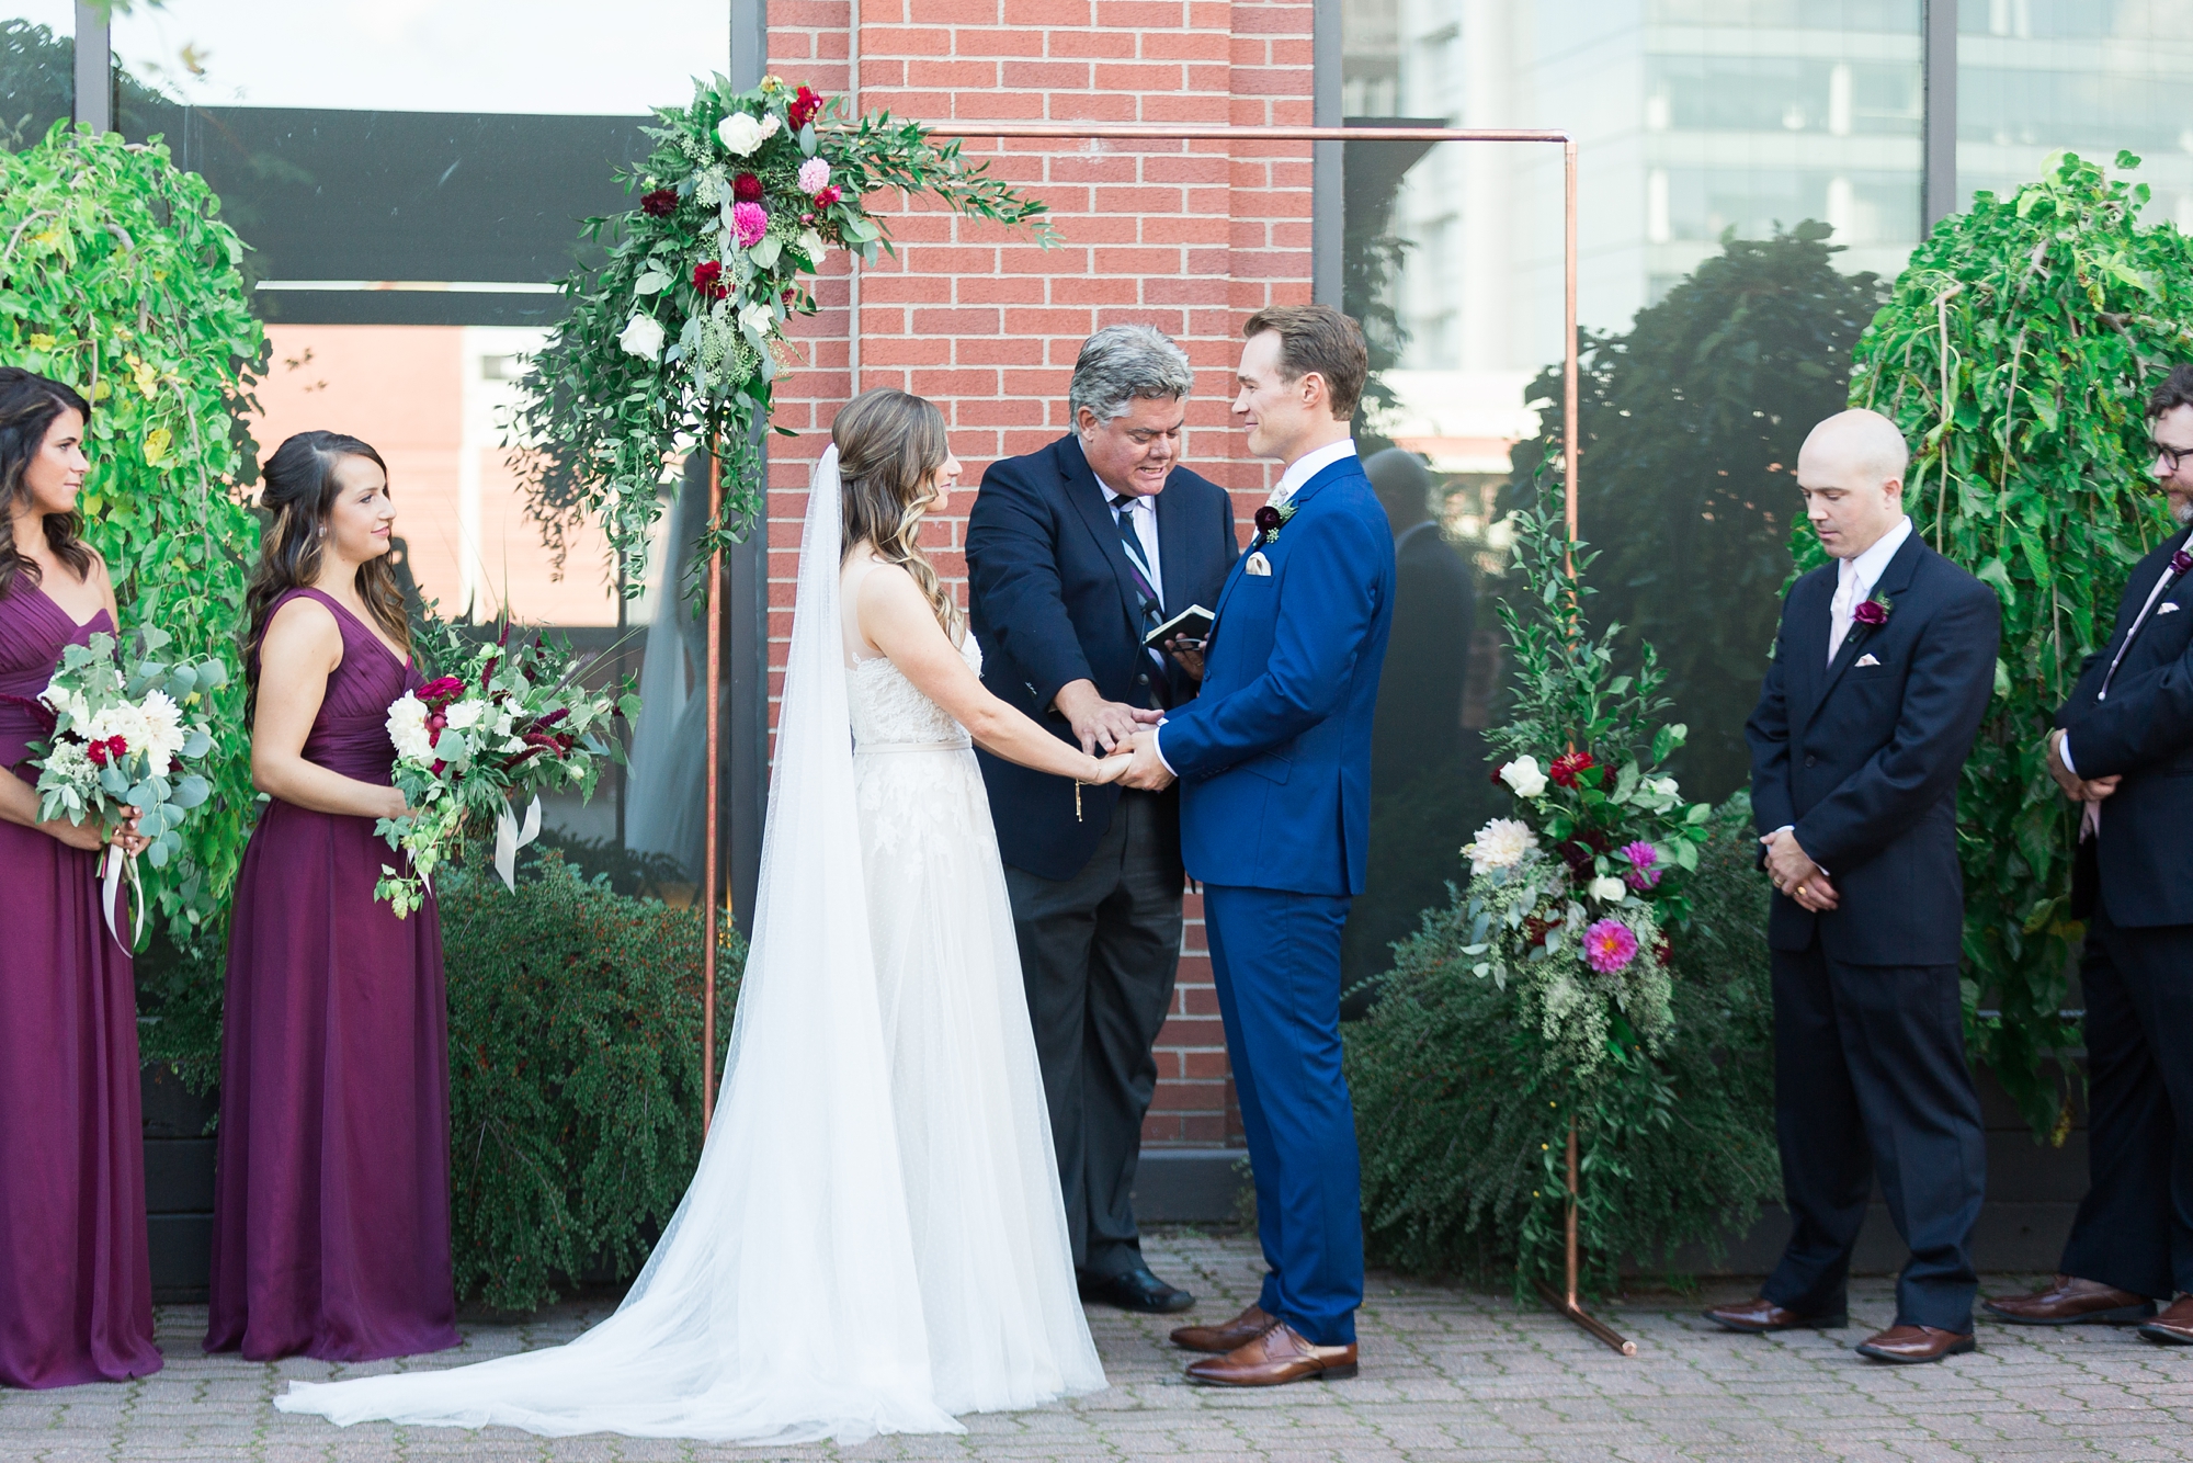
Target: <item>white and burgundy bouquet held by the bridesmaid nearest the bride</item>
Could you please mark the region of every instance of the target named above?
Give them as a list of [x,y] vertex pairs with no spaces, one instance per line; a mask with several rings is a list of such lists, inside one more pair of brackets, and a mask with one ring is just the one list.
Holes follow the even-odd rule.
[[[539,833],[539,794],[577,787],[592,796],[603,759],[625,759],[610,719],[618,711],[638,715],[640,700],[579,684],[586,665],[568,645],[539,634],[520,640],[511,645],[504,623],[493,645],[445,660],[463,673],[430,680],[388,706],[393,781],[410,812],[373,825],[404,855],[401,869],[382,864],[373,897],[386,899],[397,919],[425,901],[434,869],[454,847],[489,827],[496,871],[513,884],[518,849]],[[531,805],[520,827],[511,809],[524,798]]]

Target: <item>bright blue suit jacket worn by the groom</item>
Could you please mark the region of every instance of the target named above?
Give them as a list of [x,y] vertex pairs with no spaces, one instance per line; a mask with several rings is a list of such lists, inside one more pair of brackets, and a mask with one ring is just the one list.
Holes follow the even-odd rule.
[[1167,717],[1180,842],[1208,884],[1360,895],[1371,722],[1393,627],[1393,529],[1353,456],[1294,494],[1294,518],[1232,566],[1204,693]]

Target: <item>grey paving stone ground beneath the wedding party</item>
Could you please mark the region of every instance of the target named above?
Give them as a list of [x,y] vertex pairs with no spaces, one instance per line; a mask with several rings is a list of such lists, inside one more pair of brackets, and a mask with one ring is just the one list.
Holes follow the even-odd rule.
[[[1169,1230],[1151,1266],[1230,1316],[1257,1294],[1259,1261],[1239,1235]],[[2033,1277],[1987,1277],[1982,1294]],[[1353,1382],[1224,1393],[1191,1388],[1169,1320],[1094,1309],[1112,1388],[1037,1413],[978,1415],[965,1437],[882,1437],[857,1448],[724,1448],[623,1437],[539,1439],[507,1428],[336,1428],[276,1413],[292,1377],[386,1371],[197,1351],[206,1312],[160,1309],[167,1371],[127,1386],[0,1391],[0,1459],[978,1459],[1230,1463],[1660,1463],[1671,1459],[2193,1459],[2193,1347],[2156,1347],[2105,1327],[1980,1323],[1980,1351],[1934,1366],[1879,1366],[1851,1347],[1893,1318],[1888,1281],[1860,1281],[1851,1327],[1730,1336],[1700,1320],[1702,1294],[1640,1294],[1601,1314],[1638,1342],[1621,1358],[1504,1296],[1373,1277]],[[524,1325],[467,1325],[465,1347],[401,1366],[450,1366],[555,1345],[599,1320],[607,1298],[559,1305]]]

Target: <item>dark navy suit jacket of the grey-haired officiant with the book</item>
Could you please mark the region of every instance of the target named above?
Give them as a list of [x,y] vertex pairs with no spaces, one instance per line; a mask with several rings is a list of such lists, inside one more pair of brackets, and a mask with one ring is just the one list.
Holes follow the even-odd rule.
[[[1143,654],[1143,601],[1118,524],[1081,441],[1061,436],[1042,452],[1009,456],[982,474],[967,513],[969,623],[982,643],[982,684],[1046,724],[1061,741],[1072,726],[1053,708],[1059,687],[1092,680],[1105,700],[1149,704],[1158,676]],[[1232,500],[1217,483],[1173,467],[1158,494],[1158,588],[1171,619],[1189,605],[1215,610],[1226,570],[1241,553]],[[1178,706],[1195,682],[1167,665],[1164,700]],[[998,853],[1046,880],[1081,873],[1112,825],[1116,787],[1075,785],[978,752]],[[1162,794],[1180,816],[1180,794]],[[1180,847],[1164,838],[1167,849]]]

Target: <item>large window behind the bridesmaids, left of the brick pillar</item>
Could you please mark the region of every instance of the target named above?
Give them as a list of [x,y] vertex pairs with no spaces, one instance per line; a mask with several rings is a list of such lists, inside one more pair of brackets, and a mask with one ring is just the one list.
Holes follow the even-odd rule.
[[706,478],[667,474],[673,513],[627,601],[599,533],[544,544],[504,426],[561,316],[555,281],[586,259],[581,222],[627,206],[616,173],[647,156],[649,110],[728,64],[730,7],[627,0],[610,24],[592,0],[167,0],[116,15],[112,44],[118,127],[167,138],[252,248],[272,347],[261,452],[305,428],[371,441],[421,601],[553,625],[601,654],[596,676],[640,676],[629,774],[546,823],[590,871],[629,875],[629,849],[667,860],[658,891],[693,884],[704,768],[684,733],[704,623],[678,592],[669,518],[695,518]]

